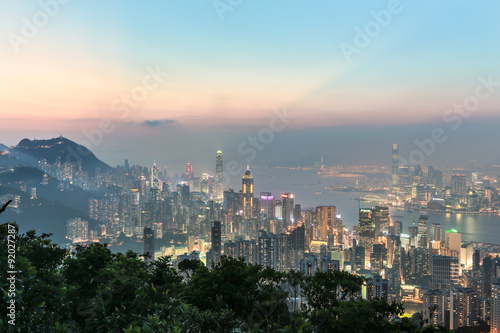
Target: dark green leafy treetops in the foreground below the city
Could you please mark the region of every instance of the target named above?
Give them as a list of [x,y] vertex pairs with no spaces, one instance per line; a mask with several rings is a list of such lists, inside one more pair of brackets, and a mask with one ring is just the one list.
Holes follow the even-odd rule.
[[[2,269],[1,332],[447,332],[400,319],[401,304],[355,300],[363,279],[345,272],[306,278],[228,257],[211,270],[186,260],[178,272],[168,257],[145,263],[137,253],[113,254],[99,243],[68,253],[50,235],[19,235],[11,225],[16,325],[8,323],[8,269]],[[0,225],[2,244],[8,235],[9,225]],[[2,245],[2,267],[7,260]],[[289,307],[301,290],[309,305]]]

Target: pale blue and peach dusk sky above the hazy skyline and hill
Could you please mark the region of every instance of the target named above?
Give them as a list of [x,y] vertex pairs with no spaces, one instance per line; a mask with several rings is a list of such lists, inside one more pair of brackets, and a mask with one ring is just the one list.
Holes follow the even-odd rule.
[[[388,164],[392,142],[422,164],[494,161],[499,14],[493,0],[0,0],[0,142],[62,134],[110,165],[176,172],[212,171],[218,149]],[[415,141],[436,129],[426,154]]]

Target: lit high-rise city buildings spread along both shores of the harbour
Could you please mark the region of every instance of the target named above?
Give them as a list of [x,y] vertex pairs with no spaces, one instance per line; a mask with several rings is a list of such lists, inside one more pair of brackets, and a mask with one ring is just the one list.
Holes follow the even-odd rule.
[[[67,221],[67,238],[73,243],[140,243],[149,254],[146,260],[169,255],[174,266],[199,259],[212,267],[226,255],[306,275],[344,270],[367,278],[359,297],[418,304],[432,325],[456,329],[486,322],[499,333],[500,246],[464,242],[458,230],[443,230],[426,215],[403,230],[389,211],[400,202],[405,209],[494,210],[496,189],[474,172],[452,174],[450,186],[443,186],[442,172],[428,167],[424,174],[418,165],[399,165],[398,154],[395,145],[394,195],[387,204],[360,208],[351,229],[333,205],[303,209],[294,193],[255,193],[249,168],[241,188],[225,188],[218,151],[214,176],[196,176],[190,163],[174,176],[156,164],[146,168],[128,161],[96,172],[86,186],[104,194],[89,200],[89,221]],[[44,168],[78,182],[77,167]],[[178,241],[179,235],[186,241]]]

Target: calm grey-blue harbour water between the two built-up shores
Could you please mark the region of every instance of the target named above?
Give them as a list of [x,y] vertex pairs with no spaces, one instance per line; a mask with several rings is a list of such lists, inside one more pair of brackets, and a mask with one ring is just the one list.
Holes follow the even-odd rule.
[[[320,205],[333,205],[342,215],[344,225],[351,229],[358,223],[358,208],[368,207],[370,202],[358,202],[355,199],[368,193],[339,192],[325,190],[332,186],[353,186],[356,178],[322,178],[312,170],[290,170],[274,168],[256,168],[254,174],[255,195],[260,192],[271,192],[275,197],[281,193],[295,194],[295,203],[301,204],[302,209]],[[241,188],[241,183],[233,184],[234,188]],[[380,195],[383,197],[383,194]],[[420,214],[429,216],[429,225],[440,223],[443,230],[457,229],[462,233],[462,240],[500,244],[500,216],[499,215],[466,215],[466,214],[438,214],[425,211],[407,212],[390,209],[393,221],[403,222],[403,232],[408,232],[408,226],[417,221]]]

